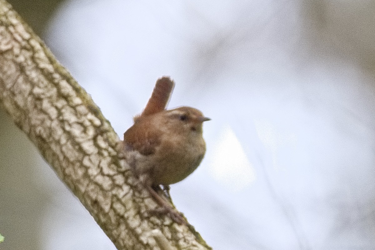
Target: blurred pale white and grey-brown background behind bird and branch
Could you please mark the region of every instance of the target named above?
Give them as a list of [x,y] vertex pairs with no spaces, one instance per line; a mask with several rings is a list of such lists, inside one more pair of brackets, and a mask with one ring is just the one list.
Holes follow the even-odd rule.
[[[373,249],[374,1],[10,3],[120,138],[163,75],[212,119],[171,195],[215,250]],[[115,249],[0,112],[0,249]]]

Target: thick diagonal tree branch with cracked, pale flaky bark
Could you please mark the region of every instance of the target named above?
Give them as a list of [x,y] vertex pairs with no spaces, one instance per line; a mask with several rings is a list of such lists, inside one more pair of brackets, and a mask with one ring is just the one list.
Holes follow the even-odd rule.
[[137,185],[110,123],[4,0],[0,103],[117,249],[211,249],[192,226],[148,213],[156,203]]

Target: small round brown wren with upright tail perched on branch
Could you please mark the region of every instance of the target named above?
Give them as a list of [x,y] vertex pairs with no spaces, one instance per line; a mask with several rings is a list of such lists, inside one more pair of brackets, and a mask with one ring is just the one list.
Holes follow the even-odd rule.
[[202,123],[210,118],[191,107],[165,110],[173,87],[169,77],[157,80],[146,108],[124,133],[124,150],[133,172],[163,211],[183,224],[183,217],[155,189],[183,180],[199,166],[206,151]]

